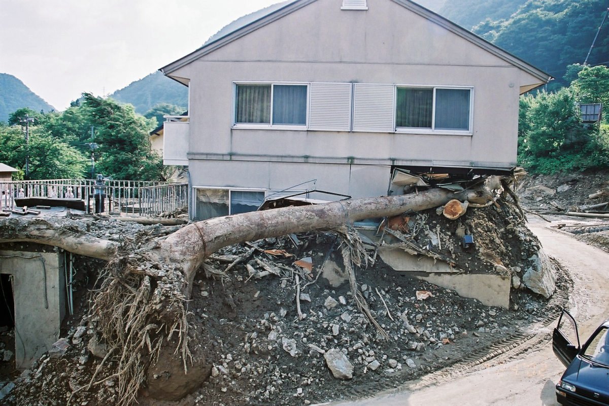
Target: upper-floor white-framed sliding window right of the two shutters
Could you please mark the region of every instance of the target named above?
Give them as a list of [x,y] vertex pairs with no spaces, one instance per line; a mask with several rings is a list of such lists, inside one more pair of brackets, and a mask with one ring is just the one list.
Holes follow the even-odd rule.
[[396,132],[471,134],[472,113],[473,88],[396,86]]

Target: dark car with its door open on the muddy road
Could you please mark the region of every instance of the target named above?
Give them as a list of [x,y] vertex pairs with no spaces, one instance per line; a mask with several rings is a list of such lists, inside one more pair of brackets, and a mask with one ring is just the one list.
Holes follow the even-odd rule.
[[558,403],[609,406],[609,320],[582,346],[575,319],[563,310],[552,335],[552,349],[567,367],[556,385]]

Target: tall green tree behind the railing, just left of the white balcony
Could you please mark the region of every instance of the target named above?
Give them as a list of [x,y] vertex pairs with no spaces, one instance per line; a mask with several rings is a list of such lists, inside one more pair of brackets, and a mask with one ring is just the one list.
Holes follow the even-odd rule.
[[[99,145],[96,169],[114,179],[160,180],[161,157],[150,149],[148,131],[153,121],[135,114],[132,105],[83,94],[82,107],[95,127],[94,142]],[[81,107],[81,108],[82,108]]]

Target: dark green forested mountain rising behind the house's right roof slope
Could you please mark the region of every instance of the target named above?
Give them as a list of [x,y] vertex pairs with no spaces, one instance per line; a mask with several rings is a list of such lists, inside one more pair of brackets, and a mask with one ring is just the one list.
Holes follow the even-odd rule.
[[[556,80],[548,88],[558,88],[574,79],[563,79],[567,66],[585,61],[607,5],[607,0],[529,0],[510,18],[486,20],[474,32],[551,74]],[[600,31],[588,65],[608,63],[609,23]]]

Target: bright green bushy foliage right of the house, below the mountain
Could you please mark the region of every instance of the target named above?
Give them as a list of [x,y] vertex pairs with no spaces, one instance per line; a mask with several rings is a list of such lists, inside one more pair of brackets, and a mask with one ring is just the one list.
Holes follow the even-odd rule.
[[599,123],[585,124],[580,111],[580,103],[607,103],[609,69],[572,65],[573,71],[577,79],[568,88],[520,99],[518,163],[533,173],[609,166],[607,114]]

